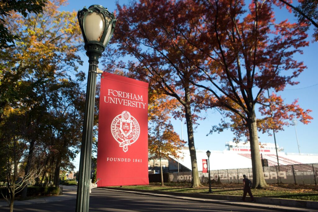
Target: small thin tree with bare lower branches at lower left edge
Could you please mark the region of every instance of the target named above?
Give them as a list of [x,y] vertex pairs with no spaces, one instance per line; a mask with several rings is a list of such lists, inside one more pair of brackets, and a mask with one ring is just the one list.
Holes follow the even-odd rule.
[[13,211],[14,199],[16,193],[20,192],[24,187],[25,181],[29,181],[41,170],[41,165],[32,164],[34,169],[27,175],[24,175],[22,163],[26,158],[27,140],[24,134],[28,133],[26,126],[26,114],[18,109],[5,111],[6,118],[0,125],[0,153],[1,166],[0,178],[5,179],[5,188],[7,194],[1,194],[10,206],[10,212]]

